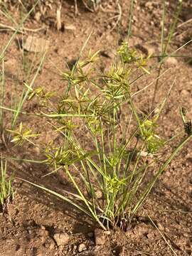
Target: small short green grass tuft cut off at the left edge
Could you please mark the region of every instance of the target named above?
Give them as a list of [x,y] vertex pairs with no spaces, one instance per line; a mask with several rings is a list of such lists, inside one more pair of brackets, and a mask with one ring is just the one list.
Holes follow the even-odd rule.
[[4,211],[6,203],[9,203],[14,199],[14,188],[12,182],[14,176],[10,178],[6,177],[7,162],[2,160],[1,157],[1,177],[0,177],[0,209]]

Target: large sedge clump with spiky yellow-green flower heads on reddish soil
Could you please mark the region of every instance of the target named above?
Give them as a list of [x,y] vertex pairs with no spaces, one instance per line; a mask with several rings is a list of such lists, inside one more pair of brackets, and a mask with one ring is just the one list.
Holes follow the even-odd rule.
[[[192,137],[183,110],[183,131],[171,139],[158,134],[159,116],[169,93],[156,114],[138,113],[130,79],[135,68],[149,74],[149,56],[139,55],[127,42],[119,46],[117,53],[117,63],[112,63],[106,73],[95,74],[99,52],[90,52],[87,59],[78,60],[72,70],[62,73],[68,86],[60,100],[54,105],[51,96],[46,97],[48,111],[44,106],[44,112],[36,114],[47,117],[48,124],[63,138],[61,144],[47,144],[42,149],[45,159],[41,163],[53,168],[47,175],[63,169],[77,193],[65,191],[60,195],[32,184],[82,210],[104,230],[115,225],[127,228],[156,180]],[[28,99],[42,91],[31,88]],[[129,118],[122,119],[122,112]],[[86,136],[80,127],[86,129]],[[23,124],[9,132],[16,144],[27,141],[36,145],[31,138],[38,134],[23,130]],[[167,146],[178,135],[181,142],[167,156]]]

